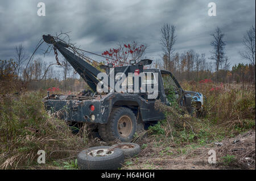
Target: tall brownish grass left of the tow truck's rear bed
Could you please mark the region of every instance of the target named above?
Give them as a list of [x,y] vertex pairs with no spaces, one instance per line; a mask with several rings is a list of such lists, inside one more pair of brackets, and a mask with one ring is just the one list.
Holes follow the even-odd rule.
[[36,165],[38,150],[46,162],[72,157],[88,146],[88,137],[75,136],[64,121],[47,115],[42,93],[26,92],[0,98],[0,169]]

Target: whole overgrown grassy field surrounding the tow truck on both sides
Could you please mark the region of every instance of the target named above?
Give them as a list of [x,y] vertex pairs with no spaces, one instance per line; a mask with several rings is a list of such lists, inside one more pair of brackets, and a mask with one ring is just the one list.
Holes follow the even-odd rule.
[[[166,119],[134,138],[142,147],[122,169],[255,169],[255,85],[182,82],[184,90],[206,97],[206,116],[196,118],[180,108],[156,108]],[[0,97],[0,169],[77,169],[79,151],[112,145],[92,138],[86,125],[72,134],[61,120],[46,113],[46,90]],[[39,165],[37,151],[46,150]],[[208,163],[209,150],[216,163]]]

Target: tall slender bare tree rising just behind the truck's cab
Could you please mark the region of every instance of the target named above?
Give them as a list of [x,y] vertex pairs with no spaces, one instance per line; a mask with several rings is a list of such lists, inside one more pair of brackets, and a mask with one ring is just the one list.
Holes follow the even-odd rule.
[[[164,54],[166,54],[167,61],[171,61],[171,55],[174,52],[174,44],[176,42],[175,26],[170,24],[164,24],[161,28],[162,37],[160,44],[162,45]],[[171,64],[170,64],[171,65]]]

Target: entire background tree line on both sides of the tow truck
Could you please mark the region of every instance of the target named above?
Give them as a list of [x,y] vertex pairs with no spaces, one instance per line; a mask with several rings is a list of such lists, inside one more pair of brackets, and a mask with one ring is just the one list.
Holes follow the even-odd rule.
[[[162,60],[154,61],[154,64],[147,68],[170,70],[179,81],[200,81],[210,78],[215,82],[223,83],[255,83],[254,26],[251,26],[243,35],[241,42],[243,49],[239,52],[241,60],[247,64],[240,63],[232,67],[229,57],[226,56],[225,33],[220,27],[216,27],[209,35],[212,37],[210,57],[205,57],[205,53],[200,54],[193,49],[177,52],[175,43],[178,37],[174,25],[163,24],[160,33],[162,35],[160,38],[163,50]],[[102,52],[102,56],[106,58],[107,64],[129,65],[130,60],[139,61],[146,58],[146,48],[146,45],[138,44],[136,41],[122,42],[118,43],[117,47]],[[49,66],[52,62],[47,63],[40,57],[33,58],[33,61],[26,65],[27,60],[28,56],[22,44],[15,47],[14,59],[0,60],[1,86],[9,83],[11,79],[20,82],[22,86],[26,85],[30,90],[47,89],[52,86],[70,91],[88,88],[65,58],[63,58],[62,66],[57,68]]]

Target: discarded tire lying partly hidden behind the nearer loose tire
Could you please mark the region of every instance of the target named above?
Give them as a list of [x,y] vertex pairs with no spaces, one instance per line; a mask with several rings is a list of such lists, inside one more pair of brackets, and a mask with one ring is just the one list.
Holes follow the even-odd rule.
[[133,142],[121,142],[111,146],[113,149],[119,148],[123,150],[125,157],[134,157],[141,151],[141,146]]

